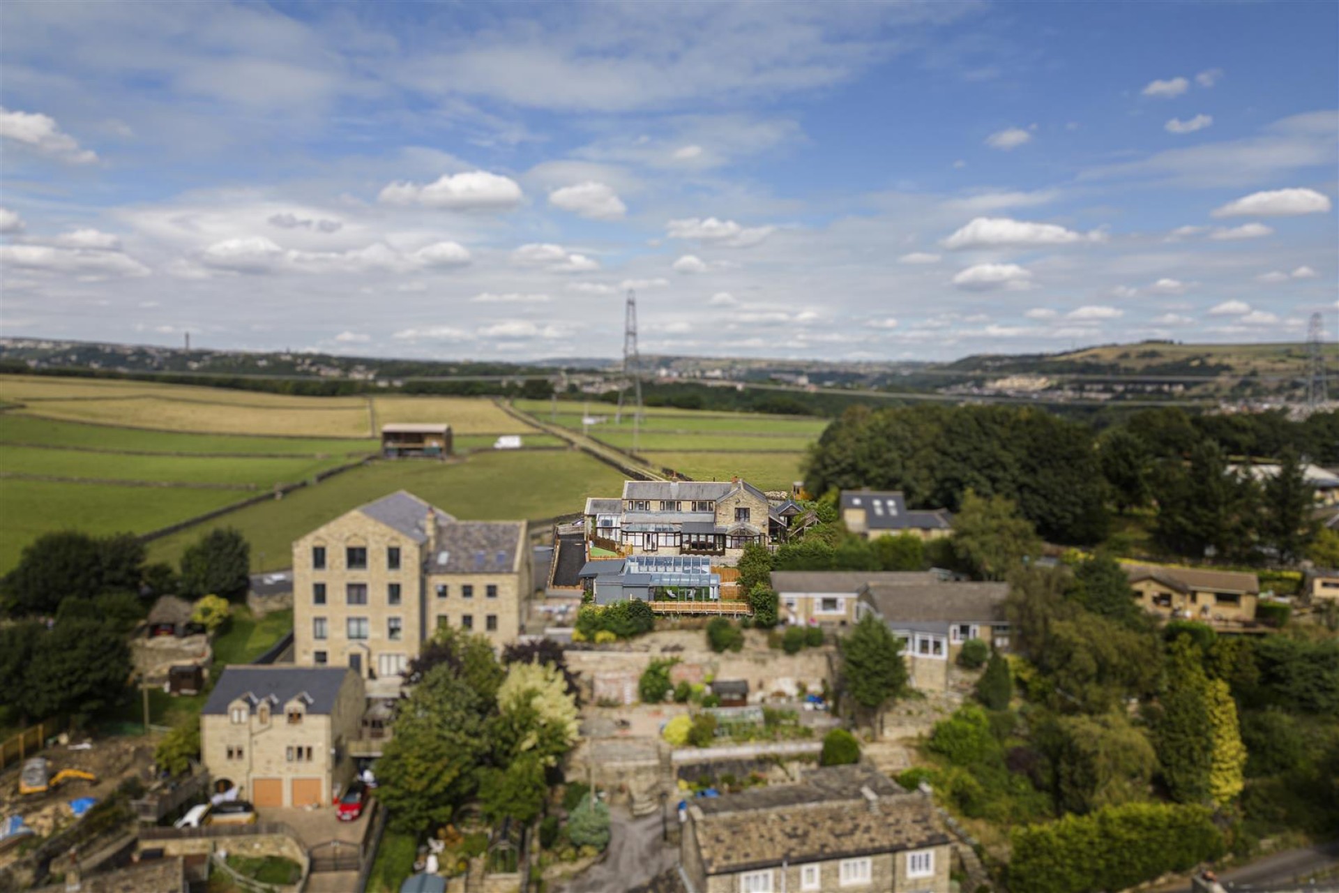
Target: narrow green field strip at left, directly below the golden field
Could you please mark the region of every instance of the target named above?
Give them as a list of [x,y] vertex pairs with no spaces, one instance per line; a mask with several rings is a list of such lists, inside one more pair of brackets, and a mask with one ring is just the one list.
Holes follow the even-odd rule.
[[[0,378],[0,382],[4,379]],[[209,454],[287,454],[287,455],[356,455],[376,453],[375,439],[299,439],[250,438],[220,434],[167,434],[103,424],[56,422],[16,412],[0,412],[0,443],[25,443],[84,450],[127,453],[209,453]]]

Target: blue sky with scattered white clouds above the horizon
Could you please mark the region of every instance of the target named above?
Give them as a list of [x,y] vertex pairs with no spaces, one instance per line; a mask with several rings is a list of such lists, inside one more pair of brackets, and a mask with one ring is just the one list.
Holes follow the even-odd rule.
[[952,359],[1335,329],[1334,3],[0,5],[0,332]]

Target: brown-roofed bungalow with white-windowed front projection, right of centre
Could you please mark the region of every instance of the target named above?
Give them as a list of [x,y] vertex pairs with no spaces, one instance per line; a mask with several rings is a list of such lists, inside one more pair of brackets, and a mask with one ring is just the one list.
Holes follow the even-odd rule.
[[1008,648],[1007,596],[1003,582],[873,584],[861,589],[856,615],[878,617],[905,643],[915,687],[944,689],[948,665],[967,640]]

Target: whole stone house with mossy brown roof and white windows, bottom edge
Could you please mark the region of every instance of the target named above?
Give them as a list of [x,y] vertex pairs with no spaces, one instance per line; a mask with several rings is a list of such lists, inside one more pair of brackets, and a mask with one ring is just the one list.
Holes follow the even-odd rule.
[[687,809],[692,893],[948,893],[949,837],[923,791],[866,766],[832,766]]

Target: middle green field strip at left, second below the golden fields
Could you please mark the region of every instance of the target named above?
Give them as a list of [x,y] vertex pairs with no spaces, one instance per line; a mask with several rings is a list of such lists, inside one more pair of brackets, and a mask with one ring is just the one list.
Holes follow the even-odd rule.
[[270,459],[257,457],[125,455],[23,446],[7,446],[3,455],[4,462],[0,471],[4,473],[58,478],[161,481],[166,483],[253,485],[257,487],[307,481],[349,461],[347,457]]

